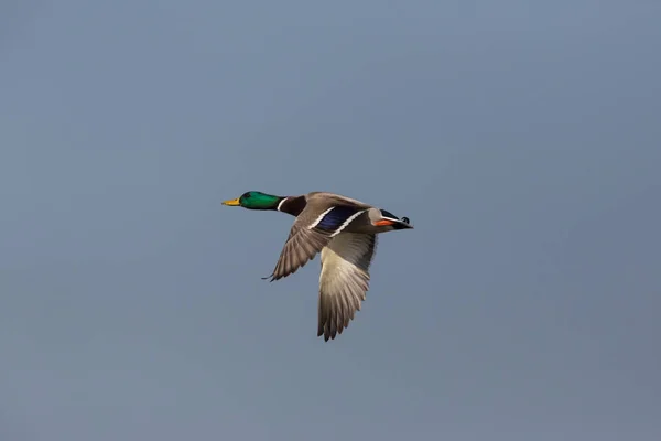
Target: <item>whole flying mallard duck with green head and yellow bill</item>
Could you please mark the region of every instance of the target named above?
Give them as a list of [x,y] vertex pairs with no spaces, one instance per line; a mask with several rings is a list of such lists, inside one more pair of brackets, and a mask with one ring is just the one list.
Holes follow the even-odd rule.
[[317,336],[325,341],[342,334],[366,299],[377,235],[413,228],[405,217],[327,192],[301,196],[248,192],[224,204],[296,217],[270,279],[296,272],[321,252]]

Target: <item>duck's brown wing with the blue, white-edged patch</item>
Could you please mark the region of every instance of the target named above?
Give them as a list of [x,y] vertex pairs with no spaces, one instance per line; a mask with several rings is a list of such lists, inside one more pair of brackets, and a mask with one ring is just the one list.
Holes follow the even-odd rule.
[[271,281],[304,267],[364,211],[360,207],[335,205],[319,214],[318,207],[308,204],[292,225],[275,269],[269,276]]

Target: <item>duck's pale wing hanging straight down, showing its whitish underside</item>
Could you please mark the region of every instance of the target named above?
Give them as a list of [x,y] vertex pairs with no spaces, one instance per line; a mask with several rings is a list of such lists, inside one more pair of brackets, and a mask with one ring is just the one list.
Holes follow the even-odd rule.
[[377,236],[343,233],[322,250],[317,336],[335,338],[349,325],[369,289]]

